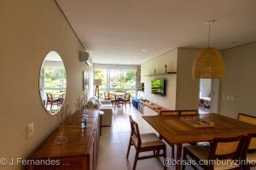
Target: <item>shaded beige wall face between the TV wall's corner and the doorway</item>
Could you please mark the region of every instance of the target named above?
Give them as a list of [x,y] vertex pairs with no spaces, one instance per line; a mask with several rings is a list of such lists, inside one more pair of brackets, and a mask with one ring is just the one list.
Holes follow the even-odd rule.
[[194,59],[200,49],[177,48],[177,110],[197,110],[199,80],[192,78]]

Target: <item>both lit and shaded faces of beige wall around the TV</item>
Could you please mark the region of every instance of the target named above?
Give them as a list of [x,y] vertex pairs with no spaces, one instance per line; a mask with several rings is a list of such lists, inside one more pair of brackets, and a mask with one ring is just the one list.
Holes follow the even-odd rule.
[[[154,59],[143,63],[142,82],[145,82],[144,99],[162,105],[170,110],[198,109],[199,80],[192,79],[192,67],[199,49],[176,48],[166,54],[160,54]],[[158,76],[166,78],[166,96],[151,94],[151,80],[155,77],[143,77],[165,71],[177,71],[177,75]]]

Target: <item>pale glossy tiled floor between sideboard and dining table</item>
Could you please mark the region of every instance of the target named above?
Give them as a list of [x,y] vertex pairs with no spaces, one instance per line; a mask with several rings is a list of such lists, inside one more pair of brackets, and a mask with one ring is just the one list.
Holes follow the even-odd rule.
[[[112,127],[102,127],[100,138],[99,156],[97,170],[130,170],[132,169],[135,150],[131,146],[129,159],[126,159],[126,151],[130,138],[131,127],[129,116],[132,116],[139,125],[140,133],[156,133],[142,118],[142,114],[136,109],[127,107],[127,110],[118,108],[113,116]],[[170,157],[171,148],[167,145],[167,157]],[[144,153],[143,155],[147,155]],[[151,154],[151,153],[150,153]],[[158,170],[164,169],[163,159],[148,159],[137,162],[137,170]],[[168,169],[173,169],[169,167]]]

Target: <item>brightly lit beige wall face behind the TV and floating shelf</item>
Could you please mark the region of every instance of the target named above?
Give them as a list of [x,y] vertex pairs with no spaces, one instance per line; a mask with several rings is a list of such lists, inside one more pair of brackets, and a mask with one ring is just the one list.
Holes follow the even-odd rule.
[[[141,78],[142,82],[145,83],[143,98],[149,99],[170,110],[174,110],[176,104],[176,75],[144,77],[148,74],[154,74],[154,69],[156,70],[156,73],[165,72],[165,65],[167,65],[167,71],[177,70],[177,48],[166,54],[161,54],[141,65]],[[166,96],[151,94],[151,80],[159,77],[166,79]]]

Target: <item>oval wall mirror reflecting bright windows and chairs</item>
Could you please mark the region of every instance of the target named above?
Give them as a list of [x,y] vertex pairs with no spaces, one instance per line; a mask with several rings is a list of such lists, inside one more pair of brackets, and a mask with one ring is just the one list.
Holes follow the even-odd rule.
[[39,89],[44,108],[55,115],[63,105],[67,88],[66,70],[61,56],[50,51],[40,71]]

